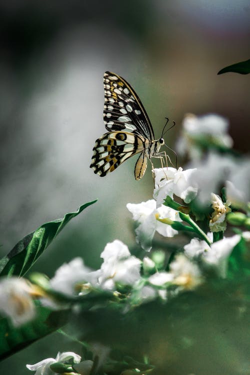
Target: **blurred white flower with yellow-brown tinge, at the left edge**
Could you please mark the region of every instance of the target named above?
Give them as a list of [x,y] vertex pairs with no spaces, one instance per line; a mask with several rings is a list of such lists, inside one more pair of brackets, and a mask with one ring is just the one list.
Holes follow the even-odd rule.
[[35,316],[31,298],[31,284],[23,278],[11,277],[0,280],[0,312],[8,316],[14,326],[19,326]]

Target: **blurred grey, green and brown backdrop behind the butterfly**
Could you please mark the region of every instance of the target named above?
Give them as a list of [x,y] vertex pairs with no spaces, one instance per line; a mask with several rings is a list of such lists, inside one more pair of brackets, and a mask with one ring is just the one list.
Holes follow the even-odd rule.
[[[185,113],[215,112],[229,119],[235,148],[248,149],[250,77],[216,75],[250,57],[248,0],[1,0],[0,39],[1,254],[43,222],[99,199],[35,264],[49,276],[77,255],[98,267],[115,238],[131,245],[125,205],[152,196],[150,168],[135,181],[134,159],[104,178],[89,168],[105,132],[105,70],[134,87],[155,136],[165,116],[175,120],[165,136],[170,147]],[[57,350],[74,344],[50,335],[0,368],[26,374],[25,363]]]

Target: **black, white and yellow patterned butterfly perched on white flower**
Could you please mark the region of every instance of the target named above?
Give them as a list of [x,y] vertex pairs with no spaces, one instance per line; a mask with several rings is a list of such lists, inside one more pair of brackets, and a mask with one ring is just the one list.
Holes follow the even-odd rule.
[[161,136],[154,140],[147,113],[124,78],[106,71],[103,84],[103,120],[108,132],[96,139],[90,168],[102,177],[139,153],[134,167],[134,177],[139,180],[146,170],[147,158],[151,161],[152,157],[161,157],[159,149],[164,139]]

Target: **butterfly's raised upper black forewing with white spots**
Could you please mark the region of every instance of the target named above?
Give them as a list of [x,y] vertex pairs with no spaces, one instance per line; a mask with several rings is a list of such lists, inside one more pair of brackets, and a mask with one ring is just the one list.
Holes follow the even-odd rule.
[[115,73],[106,71],[103,76],[103,119],[108,131],[127,131],[154,139],[153,129],[146,111],[132,87]]

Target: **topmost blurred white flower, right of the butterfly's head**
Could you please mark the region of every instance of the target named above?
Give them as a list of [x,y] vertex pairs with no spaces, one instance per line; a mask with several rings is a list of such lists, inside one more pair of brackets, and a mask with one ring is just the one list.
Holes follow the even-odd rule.
[[203,116],[187,114],[183,119],[182,136],[177,142],[177,152],[187,152],[191,159],[200,158],[204,143],[231,147],[232,138],[227,134],[227,119],[209,113]]

